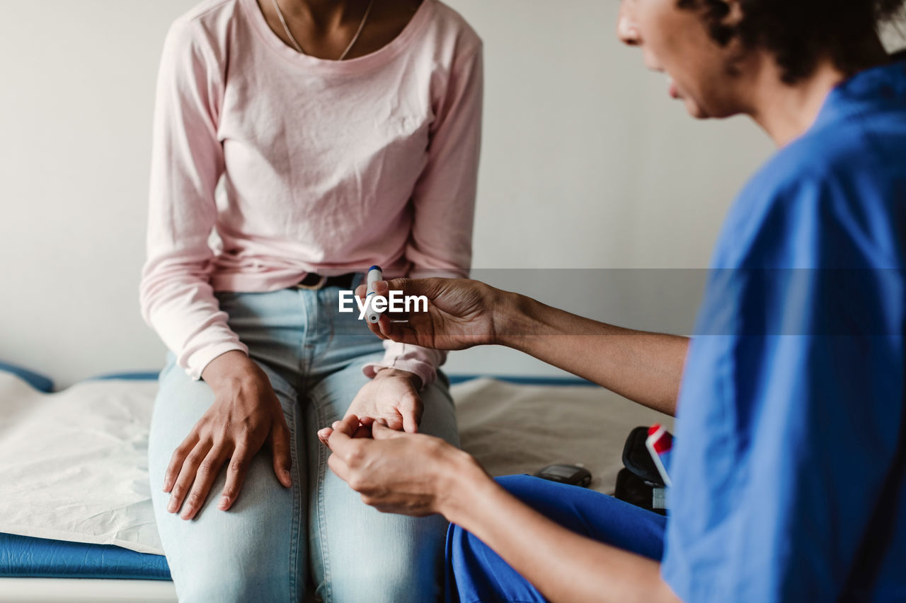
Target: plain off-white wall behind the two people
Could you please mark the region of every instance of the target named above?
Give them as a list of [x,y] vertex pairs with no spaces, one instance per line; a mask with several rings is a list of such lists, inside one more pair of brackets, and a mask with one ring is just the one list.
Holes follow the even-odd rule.
[[[0,360],[58,385],[159,368],[137,301],[152,97],[163,35],[193,4],[0,0]],[[706,266],[766,137],[743,119],[690,120],[616,42],[616,2],[450,4],[486,44],[477,268]],[[589,271],[603,297],[573,299],[533,273],[481,274],[665,330],[688,329],[699,292],[679,271]],[[454,354],[448,368],[553,372],[496,348]]]

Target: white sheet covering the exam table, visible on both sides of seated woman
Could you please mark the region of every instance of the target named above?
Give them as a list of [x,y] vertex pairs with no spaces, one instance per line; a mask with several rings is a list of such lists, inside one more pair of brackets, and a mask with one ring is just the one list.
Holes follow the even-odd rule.
[[[162,554],[148,483],[157,383],[44,394],[0,371],[0,532]],[[667,416],[602,388],[475,379],[453,386],[461,444],[494,475],[583,464],[612,493],[632,427]]]

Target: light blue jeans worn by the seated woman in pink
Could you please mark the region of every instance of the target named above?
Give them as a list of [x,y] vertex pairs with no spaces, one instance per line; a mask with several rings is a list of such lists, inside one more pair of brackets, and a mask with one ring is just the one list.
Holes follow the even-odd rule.
[[[316,431],[342,418],[383,355],[358,313],[339,313],[338,289],[217,293],[230,327],[265,370],[292,438],[293,487],[255,455],[239,497],[217,510],[221,472],[196,519],[166,511],[170,455],[214,400],[169,355],[149,436],[149,474],[160,538],[180,601],[298,601],[308,585],[323,601],[401,603],[440,597],[447,522],[385,514],[327,469]],[[421,391],[419,431],[458,444],[447,379]],[[312,594],[311,590],[307,593]]]

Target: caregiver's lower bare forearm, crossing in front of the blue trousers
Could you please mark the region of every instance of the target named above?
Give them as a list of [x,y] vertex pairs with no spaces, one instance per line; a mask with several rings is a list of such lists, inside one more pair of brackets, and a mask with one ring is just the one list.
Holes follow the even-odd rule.
[[445,515],[556,601],[677,601],[660,564],[569,531],[518,501],[477,466],[458,472]]

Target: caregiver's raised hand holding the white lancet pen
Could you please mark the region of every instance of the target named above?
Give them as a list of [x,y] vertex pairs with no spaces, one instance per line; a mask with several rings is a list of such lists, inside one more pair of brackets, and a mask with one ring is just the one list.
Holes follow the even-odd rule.
[[[398,317],[405,321],[394,321],[384,312],[380,321],[368,326],[381,339],[434,349],[494,343],[505,297],[505,292],[484,282],[467,279],[393,279],[374,283],[374,291],[385,298],[390,291],[427,298],[428,311]],[[365,285],[356,294],[364,299]]]

